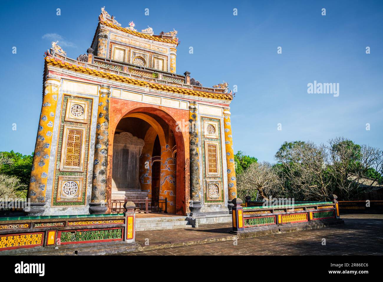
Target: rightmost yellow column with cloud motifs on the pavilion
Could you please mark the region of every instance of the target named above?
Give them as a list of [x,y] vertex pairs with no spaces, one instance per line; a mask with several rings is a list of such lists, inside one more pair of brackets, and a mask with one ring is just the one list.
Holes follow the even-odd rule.
[[228,208],[231,212],[234,206],[232,200],[237,198],[236,166],[234,162],[233,139],[231,133],[230,108],[223,108],[223,122],[225,131],[226,165],[228,169]]

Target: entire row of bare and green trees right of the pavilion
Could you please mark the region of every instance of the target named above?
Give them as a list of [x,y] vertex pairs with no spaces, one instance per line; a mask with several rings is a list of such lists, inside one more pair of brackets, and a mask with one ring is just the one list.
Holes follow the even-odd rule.
[[327,145],[285,142],[274,165],[255,161],[246,166],[243,153],[236,156],[238,170],[242,169],[242,173],[236,170],[242,199],[247,195],[254,199],[258,192],[261,197],[306,201],[324,200],[330,194],[350,200],[383,183],[383,151],[344,137],[330,139]]

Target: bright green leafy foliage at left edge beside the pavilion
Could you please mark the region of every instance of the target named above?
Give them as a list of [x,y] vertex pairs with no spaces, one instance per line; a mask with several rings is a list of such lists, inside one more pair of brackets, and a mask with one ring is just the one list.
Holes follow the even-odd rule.
[[32,171],[33,153],[31,155],[23,155],[14,152],[0,152],[4,157],[13,161],[11,164],[0,165],[0,174],[15,176],[20,182],[29,185],[29,179]]

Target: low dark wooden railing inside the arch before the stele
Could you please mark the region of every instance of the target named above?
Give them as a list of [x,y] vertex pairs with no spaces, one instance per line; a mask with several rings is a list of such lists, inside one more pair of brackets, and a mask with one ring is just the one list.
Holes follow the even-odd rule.
[[[124,210],[124,202],[125,200],[112,200],[111,201],[111,213],[121,213]],[[167,213],[167,198],[152,200],[149,198],[146,199],[137,199],[137,200],[129,200],[129,202],[133,202],[136,205],[134,211],[138,213],[150,213],[153,211]]]

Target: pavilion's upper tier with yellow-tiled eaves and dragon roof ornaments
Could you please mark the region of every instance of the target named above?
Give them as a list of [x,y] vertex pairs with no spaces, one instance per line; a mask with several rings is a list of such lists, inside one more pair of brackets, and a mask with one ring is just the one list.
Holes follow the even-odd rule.
[[45,52],[46,64],[159,84],[160,88],[176,88],[195,96],[232,100],[227,82],[205,87],[191,78],[190,72],[183,75],[175,73],[176,48],[180,44],[177,31],[162,31],[155,35],[150,27],[141,32],[134,27],[133,21],[128,27],[121,27],[113,15],[101,8],[95,36],[87,53],[77,59],[69,58],[58,41],[52,42],[52,47]]

